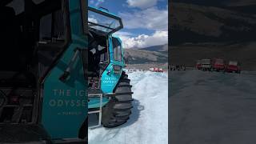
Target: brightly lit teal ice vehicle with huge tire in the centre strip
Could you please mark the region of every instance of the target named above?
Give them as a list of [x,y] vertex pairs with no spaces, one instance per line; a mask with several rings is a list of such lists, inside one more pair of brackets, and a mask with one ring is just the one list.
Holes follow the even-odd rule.
[[133,93],[123,70],[122,41],[113,36],[122,27],[122,18],[89,6],[88,114],[98,114],[96,126],[120,126],[131,114]]

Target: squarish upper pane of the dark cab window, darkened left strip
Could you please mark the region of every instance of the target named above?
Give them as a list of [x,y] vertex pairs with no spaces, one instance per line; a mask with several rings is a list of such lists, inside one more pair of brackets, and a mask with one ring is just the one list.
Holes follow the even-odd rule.
[[40,42],[64,42],[64,20],[62,10],[46,14],[40,20]]

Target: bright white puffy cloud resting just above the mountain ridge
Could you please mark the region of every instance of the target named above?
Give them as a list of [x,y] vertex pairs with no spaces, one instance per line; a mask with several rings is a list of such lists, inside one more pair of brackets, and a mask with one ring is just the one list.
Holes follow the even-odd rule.
[[132,34],[127,32],[117,32],[114,35],[122,39],[124,48],[145,48],[164,45],[168,42],[168,30],[156,31],[152,35],[140,34],[138,37],[133,37]]

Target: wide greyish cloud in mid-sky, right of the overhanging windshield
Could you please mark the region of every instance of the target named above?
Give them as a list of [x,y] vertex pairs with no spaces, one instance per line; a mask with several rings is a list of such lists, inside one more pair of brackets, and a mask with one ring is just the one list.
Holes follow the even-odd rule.
[[144,28],[148,30],[167,30],[168,29],[168,9],[158,10],[154,6],[146,10],[126,12],[119,14],[127,29]]

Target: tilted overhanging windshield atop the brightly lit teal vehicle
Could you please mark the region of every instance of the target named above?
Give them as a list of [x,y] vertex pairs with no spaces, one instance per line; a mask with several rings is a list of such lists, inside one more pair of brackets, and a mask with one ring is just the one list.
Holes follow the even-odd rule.
[[89,7],[88,27],[96,33],[113,34],[122,29],[122,19],[106,11]]

